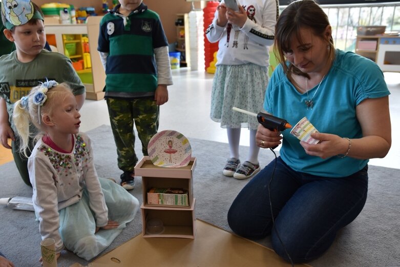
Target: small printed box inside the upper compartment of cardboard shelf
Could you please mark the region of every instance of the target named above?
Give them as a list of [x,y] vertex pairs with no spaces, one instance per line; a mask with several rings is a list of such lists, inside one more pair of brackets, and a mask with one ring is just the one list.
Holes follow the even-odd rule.
[[148,204],[189,206],[188,192],[182,188],[151,188],[147,193]]

